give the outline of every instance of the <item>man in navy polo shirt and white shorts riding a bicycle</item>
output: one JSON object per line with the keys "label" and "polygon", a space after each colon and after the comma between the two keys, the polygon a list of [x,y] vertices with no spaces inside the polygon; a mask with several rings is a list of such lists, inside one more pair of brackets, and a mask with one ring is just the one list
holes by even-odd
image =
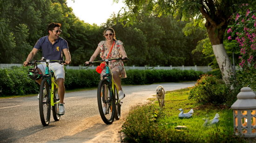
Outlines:
{"label": "man in navy polo shirt and white shorts riding a bicycle", "polygon": [[[61,24],[60,23],[51,23],[48,25],[47,30],[49,32],[48,36],[41,37],[36,44],[34,45],[33,50],[27,56],[27,60],[23,62],[24,66],[27,66],[28,63],[34,58],[38,50],[42,50],[43,57],[47,60],[63,60],[62,52],[66,57],[66,64],[70,64],[71,56],[68,50],[67,41],[60,37],[61,34]],[[35,72],[40,72],[45,74],[45,67],[44,63],[39,64],[38,68]],[[58,62],[49,63],[50,70],[54,71],[54,75],[57,79],[58,84],[58,94],[60,96],[60,107],[58,114],[64,115],[65,108],[64,108],[64,94],[65,94],[65,86],[64,86],[64,79],[65,79],[65,71],[64,66]],[[34,79],[38,84],[41,83],[41,78]],[[38,94],[39,98],[39,94]]]}

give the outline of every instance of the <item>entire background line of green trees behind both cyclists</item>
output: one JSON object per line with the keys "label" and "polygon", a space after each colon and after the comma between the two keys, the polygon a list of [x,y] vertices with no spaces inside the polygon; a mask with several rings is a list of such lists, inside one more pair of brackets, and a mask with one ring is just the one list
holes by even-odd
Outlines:
{"label": "entire background line of green trees behind both cyclists", "polygon": [[[0,0],[0,63],[22,63],[36,41],[48,34],[51,22],[62,25],[61,37],[68,42],[72,65],[89,60],[97,44],[104,40],[102,32],[107,27],[113,27],[117,39],[124,43],[131,59],[127,65],[203,66],[212,60],[199,50],[191,54],[198,41],[207,37],[205,28],[186,28],[189,22],[146,11],[136,17],[139,21],[133,25],[117,22],[121,18],[113,14],[101,26],[90,25],[74,15],[66,0]],[[189,35],[184,31],[190,31]],[[39,52],[34,59],[40,57]]]}

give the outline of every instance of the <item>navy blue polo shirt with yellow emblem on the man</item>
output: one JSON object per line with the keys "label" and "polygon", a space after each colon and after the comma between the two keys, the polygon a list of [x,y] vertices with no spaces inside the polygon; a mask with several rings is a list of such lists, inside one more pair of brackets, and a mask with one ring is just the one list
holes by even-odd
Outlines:
{"label": "navy blue polo shirt with yellow emblem on the man", "polygon": [[63,60],[62,50],[68,48],[67,41],[62,37],[59,37],[54,44],[52,44],[48,36],[41,37],[34,48],[43,51],[43,57],[47,60]]}

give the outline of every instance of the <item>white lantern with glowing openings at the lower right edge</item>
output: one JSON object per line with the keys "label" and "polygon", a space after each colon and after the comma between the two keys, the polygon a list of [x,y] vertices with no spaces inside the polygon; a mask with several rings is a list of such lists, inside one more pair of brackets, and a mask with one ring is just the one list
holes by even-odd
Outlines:
{"label": "white lantern with glowing openings at the lower right edge", "polygon": [[250,87],[237,94],[233,109],[234,133],[243,137],[256,137],[256,95]]}

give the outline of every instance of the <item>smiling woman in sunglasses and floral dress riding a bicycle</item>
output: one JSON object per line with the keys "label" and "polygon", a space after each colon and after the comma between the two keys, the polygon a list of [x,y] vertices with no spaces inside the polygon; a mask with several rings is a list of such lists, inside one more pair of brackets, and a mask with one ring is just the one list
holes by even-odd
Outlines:
{"label": "smiling woman in sunglasses and floral dress riding a bicycle", "polygon": [[[115,39],[115,31],[113,28],[107,28],[103,32],[103,36],[105,36],[106,40],[101,41],[98,44],[97,49],[94,51],[94,54],[91,56],[90,60],[85,62],[86,64],[89,64],[89,62],[93,62],[94,59],[100,54],[102,60],[105,60],[108,56],[109,51],[112,48],[111,53],[109,53],[108,59],[111,58],[119,58],[121,57],[122,59],[127,58],[126,52],[123,47],[123,43],[120,40]],[[112,71],[113,74],[113,79],[119,89],[118,95],[119,99],[124,98],[124,92],[121,87],[121,78],[126,78],[126,72],[124,69],[123,62],[121,60],[113,60],[109,61],[108,65]],[[102,75],[106,74],[106,68],[104,68],[101,72],[101,78]]]}

